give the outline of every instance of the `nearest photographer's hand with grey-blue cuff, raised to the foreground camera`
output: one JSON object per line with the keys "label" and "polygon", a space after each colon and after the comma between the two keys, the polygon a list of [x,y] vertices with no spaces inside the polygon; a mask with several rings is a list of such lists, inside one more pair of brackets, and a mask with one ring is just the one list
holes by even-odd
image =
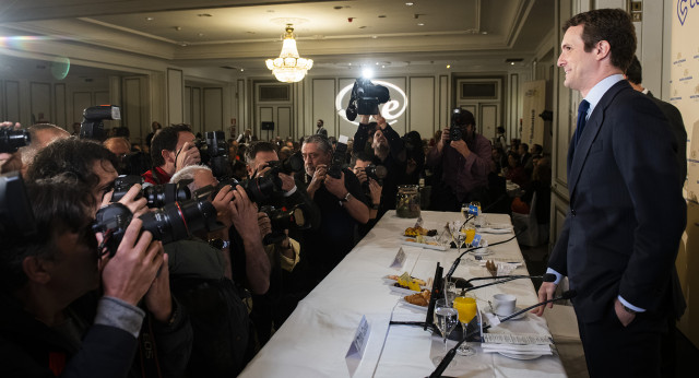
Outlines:
{"label": "nearest photographer's hand with grey-blue cuff, raised to the foreground camera", "polygon": [[[149,291],[157,270],[163,265],[163,244],[153,240],[153,234],[139,236],[143,222],[133,218],[112,258],[100,260],[102,283],[106,296],[119,298],[135,306]],[[97,239],[102,234],[97,234]]]}

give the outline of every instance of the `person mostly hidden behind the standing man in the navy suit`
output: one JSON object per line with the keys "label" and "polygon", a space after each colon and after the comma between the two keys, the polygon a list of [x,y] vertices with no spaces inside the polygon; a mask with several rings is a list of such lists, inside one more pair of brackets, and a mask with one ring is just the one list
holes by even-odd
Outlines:
{"label": "person mostly hidden behind the standing man in the navy suit", "polygon": [[638,61],[636,56],[633,56],[633,60],[631,60],[631,66],[626,70],[626,80],[629,81],[629,84],[631,84],[636,91],[653,98],[655,105],[657,105],[660,110],[667,118],[670,129],[677,141],[677,151],[675,151],[675,156],[677,158],[677,164],[679,165],[679,185],[683,186],[687,178],[687,129],[685,128],[685,122],[682,119],[682,113],[679,113],[679,109],[677,109],[675,105],[656,98],[653,96],[651,91],[643,87],[643,69],[641,68],[641,62]]}

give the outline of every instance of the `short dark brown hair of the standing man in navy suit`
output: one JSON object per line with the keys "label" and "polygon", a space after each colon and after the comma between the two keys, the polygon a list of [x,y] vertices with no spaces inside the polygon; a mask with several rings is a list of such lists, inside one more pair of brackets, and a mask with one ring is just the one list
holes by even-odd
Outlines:
{"label": "short dark brown hair of the standing man in navy suit", "polygon": [[612,64],[623,72],[636,54],[636,28],[631,16],[620,9],[596,9],[576,14],[564,24],[564,33],[571,26],[583,25],[584,51],[590,52],[601,40],[609,43]]}

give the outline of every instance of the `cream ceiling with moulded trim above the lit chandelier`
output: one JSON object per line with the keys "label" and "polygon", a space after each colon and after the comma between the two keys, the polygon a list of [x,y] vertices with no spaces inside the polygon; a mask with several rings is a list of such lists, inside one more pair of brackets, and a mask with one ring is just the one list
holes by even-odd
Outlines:
{"label": "cream ceiling with moulded trim above the lit chandelier", "polygon": [[[502,70],[506,58],[531,61],[554,25],[554,0],[407,2],[3,0],[0,36],[44,35],[167,64],[266,74],[263,60],[279,55],[293,23],[299,54],[316,71],[377,63]],[[0,39],[0,48],[17,47]]]}

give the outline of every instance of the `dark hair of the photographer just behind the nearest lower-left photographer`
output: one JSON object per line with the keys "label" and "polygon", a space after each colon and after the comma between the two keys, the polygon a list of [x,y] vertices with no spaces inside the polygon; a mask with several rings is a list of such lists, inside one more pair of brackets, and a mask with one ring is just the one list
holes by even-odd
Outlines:
{"label": "dark hair of the photographer just behind the nearest lower-left photographer", "polygon": [[99,176],[93,172],[96,161],[109,162],[115,169],[119,166],[117,156],[95,141],[75,137],[61,139],[36,154],[26,178],[34,181],[69,173],[88,188],[94,188],[99,184]]}

